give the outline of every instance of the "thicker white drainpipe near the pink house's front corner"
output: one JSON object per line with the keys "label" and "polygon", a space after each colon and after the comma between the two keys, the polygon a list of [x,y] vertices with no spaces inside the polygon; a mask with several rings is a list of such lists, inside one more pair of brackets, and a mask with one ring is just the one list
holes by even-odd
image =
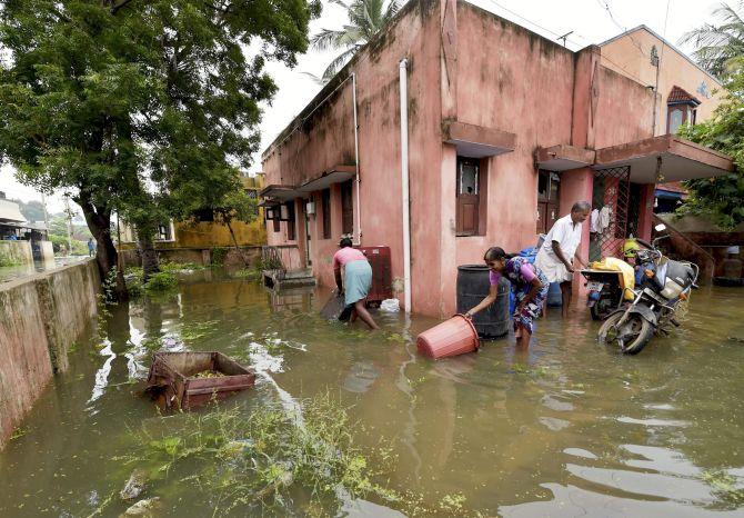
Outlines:
{"label": "thicker white drainpipe near the pink house's front corner", "polygon": [[403,202],[403,308],[411,312],[411,215],[409,198],[409,92],[408,59],[399,63],[401,88],[401,185]]}

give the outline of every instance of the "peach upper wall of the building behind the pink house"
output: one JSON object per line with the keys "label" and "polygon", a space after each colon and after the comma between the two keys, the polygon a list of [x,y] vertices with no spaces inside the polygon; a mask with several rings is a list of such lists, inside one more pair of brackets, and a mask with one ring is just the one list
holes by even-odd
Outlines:
{"label": "peach upper wall of the building behind the pink house", "polygon": [[[664,44],[645,28],[639,28],[602,46],[602,64],[637,81],[643,87],[656,84],[656,67],[651,64],[651,48],[656,46],[658,68],[658,103],[655,135],[666,133],[666,100],[674,86],[686,90],[701,101],[697,121],[711,118],[723,99],[723,87],[676,50]],[[698,89],[705,84],[707,97]],[[718,90],[715,92],[715,90]],[[653,114],[653,110],[652,110]]]}

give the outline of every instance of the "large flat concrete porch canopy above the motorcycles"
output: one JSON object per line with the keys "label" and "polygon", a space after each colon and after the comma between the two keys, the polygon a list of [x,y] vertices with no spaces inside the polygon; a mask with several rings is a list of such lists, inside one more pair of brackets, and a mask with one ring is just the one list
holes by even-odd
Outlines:
{"label": "large flat concrete porch canopy above the motorcycles", "polygon": [[596,151],[594,169],[622,166],[631,167],[631,181],[635,183],[711,178],[734,170],[734,165],[726,155],[673,135]]}

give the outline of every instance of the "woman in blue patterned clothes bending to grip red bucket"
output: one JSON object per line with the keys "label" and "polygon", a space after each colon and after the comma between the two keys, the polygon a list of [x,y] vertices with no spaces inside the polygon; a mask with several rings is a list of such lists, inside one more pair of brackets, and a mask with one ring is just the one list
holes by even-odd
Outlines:
{"label": "woman in blue patterned clothes bending to grip red bucket", "polygon": [[516,345],[530,347],[530,337],[534,331],[534,319],[540,317],[543,303],[547,297],[549,282],[545,275],[530,265],[524,257],[506,253],[502,248],[492,247],[483,256],[485,265],[491,269],[489,279],[491,289],[489,295],[473,309],[465,313],[473,315],[491,306],[499,293],[499,280],[505,277],[512,282],[512,290],[516,297],[516,309],[513,315],[514,337]]}

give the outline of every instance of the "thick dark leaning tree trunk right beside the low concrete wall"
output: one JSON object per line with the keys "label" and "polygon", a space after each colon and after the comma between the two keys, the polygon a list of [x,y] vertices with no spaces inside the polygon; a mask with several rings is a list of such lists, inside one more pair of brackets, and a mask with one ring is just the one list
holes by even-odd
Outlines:
{"label": "thick dark leaning tree trunk right beside the low concrete wall", "polygon": [[[111,211],[103,207],[93,206],[82,193],[76,201],[82,208],[90,233],[95,238],[95,261],[101,275],[101,282],[105,283],[109,280],[111,270],[119,262],[117,247],[114,247],[113,239],[111,238]],[[114,301],[127,300],[127,286],[124,283],[124,273],[121,269],[117,271],[115,283],[112,288],[109,292]]]}

